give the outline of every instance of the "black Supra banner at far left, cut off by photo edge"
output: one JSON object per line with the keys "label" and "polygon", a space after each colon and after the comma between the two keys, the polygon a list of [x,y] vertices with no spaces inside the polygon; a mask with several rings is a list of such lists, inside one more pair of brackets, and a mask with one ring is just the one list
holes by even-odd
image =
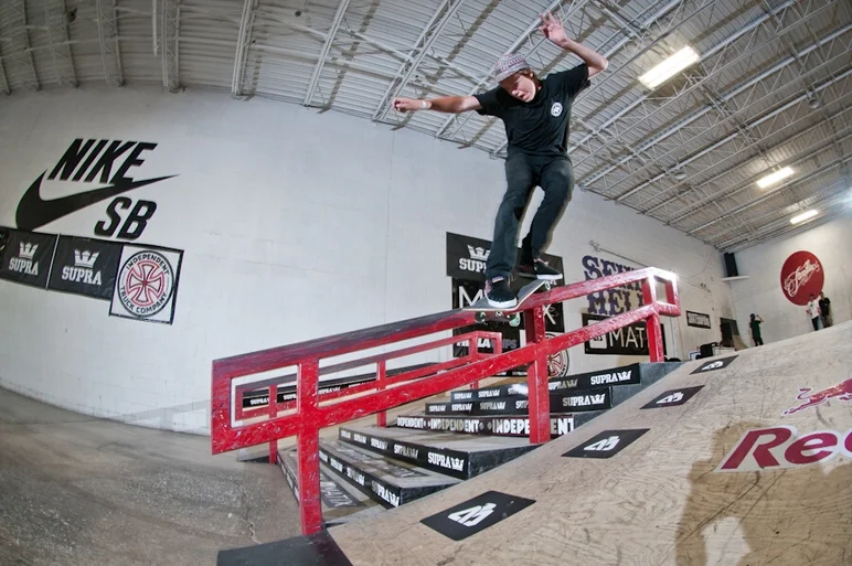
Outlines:
{"label": "black Supra banner at far left, cut off by photo edge", "polygon": [[3,264],[0,266],[0,277],[46,288],[55,247],[54,234],[10,229],[9,241],[3,250]]}

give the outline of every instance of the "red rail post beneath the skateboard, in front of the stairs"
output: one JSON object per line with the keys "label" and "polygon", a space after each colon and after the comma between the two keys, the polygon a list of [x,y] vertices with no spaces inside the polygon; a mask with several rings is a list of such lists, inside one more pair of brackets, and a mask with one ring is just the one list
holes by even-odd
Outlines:
{"label": "red rail post beneath the skateboard, in front of the stairs", "polygon": [[[544,342],[544,307],[536,307],[524,313],[526,343]],[[528,412],[530,417],[530,442],[541,444],[551,439],[551,397],[547,391],[547,355],[536,349],[535,359],[526,366]]]}

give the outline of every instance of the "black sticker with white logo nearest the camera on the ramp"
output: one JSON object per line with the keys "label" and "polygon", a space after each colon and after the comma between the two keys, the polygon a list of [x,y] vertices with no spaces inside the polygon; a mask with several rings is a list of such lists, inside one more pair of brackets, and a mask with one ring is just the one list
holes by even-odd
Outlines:
{"label": "black sticker with white logo nearest the camera on the ramp", "polygon": [[456,506],[427,516],[420,523],[454,541],[484,531],[535,503],[531,499],[487,491]]}

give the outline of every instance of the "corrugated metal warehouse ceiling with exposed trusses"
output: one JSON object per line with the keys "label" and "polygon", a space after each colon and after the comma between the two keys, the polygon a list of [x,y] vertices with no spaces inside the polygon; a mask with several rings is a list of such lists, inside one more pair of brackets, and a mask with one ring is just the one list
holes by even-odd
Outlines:
{"label": "corrugated metal warehouse ceiling with exposed trusses", "polygon": [[[737,252],[852,206],[852,3],[843,0],[0,0],[0,93],[161,84],[331,109],[494,158],[502,122],[402,115],[395,96],[493,87],[507,52],[546,75],[609,60],[576,99],[577,185]],[[654,88],[639,77],[690,47]],[[0,98],[2,111],[2,98]],[[774,183],[758,183],[777,173]],[[805,223],[790,220],[816,211]]]}

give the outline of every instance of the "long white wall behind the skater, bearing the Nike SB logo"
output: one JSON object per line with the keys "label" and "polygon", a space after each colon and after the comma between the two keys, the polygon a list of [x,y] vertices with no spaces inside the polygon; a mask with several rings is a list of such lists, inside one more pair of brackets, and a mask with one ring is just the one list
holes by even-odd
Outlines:
{"label": "long white wall behind the skater, bearing the Nike SB logo", "polygon": [[[491,239],[504,189],[502,161],[363,119],[85,87],[0,100],[0,225],[15,227],[23,192],[77,137],[156,142],[132,175],[179,175],[130,193],[158,204],[140,242],[185,250],[175,319],[117,319],[102,301],[0,280],[0,385],[179,430],[207,426],[214,359],[448,310],[446,233]],[[43,196],[94,186],[45,184]],[[107,203],[40,229],[93,237]],[[713,317],[711,331],[667,321],[670,355],[717,339],[718,317],[733,313],[718,253],[576,191],[549,249],[567,280],[584,279],[587,254],[628,264],[589,241],[677,271],[684,309]],[[566,303],[568,328],[586,306]],[[573,373],[631,361],[571,356]]]}

